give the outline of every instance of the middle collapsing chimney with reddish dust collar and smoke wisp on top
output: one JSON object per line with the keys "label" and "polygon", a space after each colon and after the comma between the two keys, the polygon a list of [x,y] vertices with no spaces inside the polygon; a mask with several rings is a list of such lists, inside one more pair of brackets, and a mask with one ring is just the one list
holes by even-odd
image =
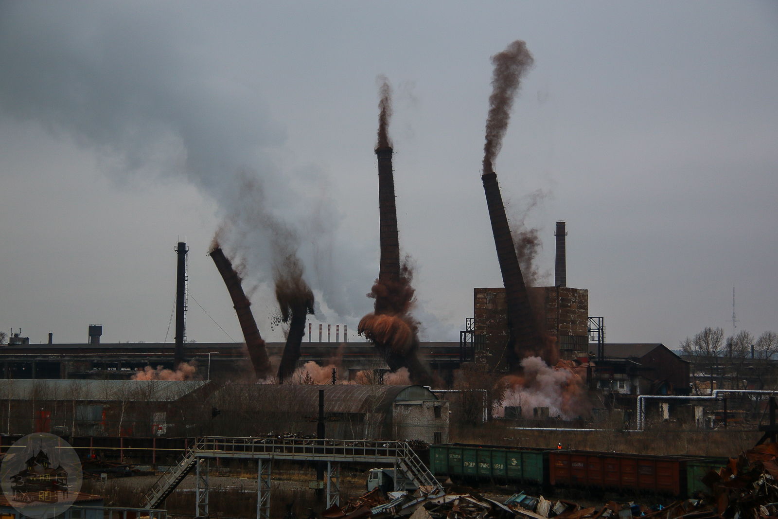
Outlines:
{"label": "middle collapsing chimney with reddish dust collar and smoke wisp on top", "polygon": [[386,78],[380,88],[378,107],[378,206],[381,258],[378,279],[368,296],[376,300],[374,312],[359,321],[357,332],[376,345],[389,369],[408,368],[415,384],[432,384],[433,379],[419,360],[419,323],[408,314],[414,302],[412,272],[400,264],[397,208],[394,204],[394,173],[389,140],[391,86]]}

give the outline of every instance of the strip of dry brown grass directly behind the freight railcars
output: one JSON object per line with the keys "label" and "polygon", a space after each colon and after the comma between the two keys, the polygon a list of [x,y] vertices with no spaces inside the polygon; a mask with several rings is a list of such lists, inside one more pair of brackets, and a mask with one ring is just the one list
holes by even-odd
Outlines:
{"label": "strip of dry brown grass directly behind the freight railcars", "polygon": [[563,448],[616,451],[633,454],[682,454],[733,457],[753,447],[762,433],[743,430],[647,430],[637,432],[566,432],[513,430],[506,423],[491,422],[461,427],[450,432],[452,442],[511,447]]}

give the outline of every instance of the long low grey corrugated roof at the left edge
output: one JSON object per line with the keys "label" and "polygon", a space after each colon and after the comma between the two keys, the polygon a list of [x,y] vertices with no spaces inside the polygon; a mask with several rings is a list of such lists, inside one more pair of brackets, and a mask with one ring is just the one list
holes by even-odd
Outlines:
{"label": "long low grey corrugated roof at the left edge", "polygon": [[2,400],[173,402],[208,384],[203,380],[0,380]]}

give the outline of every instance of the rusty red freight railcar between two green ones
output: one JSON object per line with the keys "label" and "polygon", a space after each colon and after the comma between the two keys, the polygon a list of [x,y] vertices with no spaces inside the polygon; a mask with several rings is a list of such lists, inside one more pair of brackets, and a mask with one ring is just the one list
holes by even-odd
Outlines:
{"label": "rusty red freight railcar between two green ones", "polygon": [[552,485],[632,489],[681,496],[686,493],[686,461],[681,456],[652,456],[595,451],[549,451]]}

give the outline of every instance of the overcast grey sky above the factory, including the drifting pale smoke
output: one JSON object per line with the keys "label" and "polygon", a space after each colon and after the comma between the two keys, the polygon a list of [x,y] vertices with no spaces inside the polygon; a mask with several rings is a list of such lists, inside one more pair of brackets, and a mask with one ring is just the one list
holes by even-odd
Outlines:
{"label": "overcast grey sky above the factory, including the drifting pale smoke", "polygon": [[[456,340],[473,287],[502,285],[479,167],[489,56],[516,39],[535,67],[496,172],[514,220],[545,193],[541,269],[566,220],[568,284],[609,342],[731,333],[733,286],[738,327],[778,328],[778,2],[0,2],[0,329],[161,342],[186,240],[187,337],[240,341],[205,254],[261,208],[296,230],[317,317],[353,339],[378,272],[385,74],[417,314]],[[230,247],[279,340],[268,236],[247,227]]]}

